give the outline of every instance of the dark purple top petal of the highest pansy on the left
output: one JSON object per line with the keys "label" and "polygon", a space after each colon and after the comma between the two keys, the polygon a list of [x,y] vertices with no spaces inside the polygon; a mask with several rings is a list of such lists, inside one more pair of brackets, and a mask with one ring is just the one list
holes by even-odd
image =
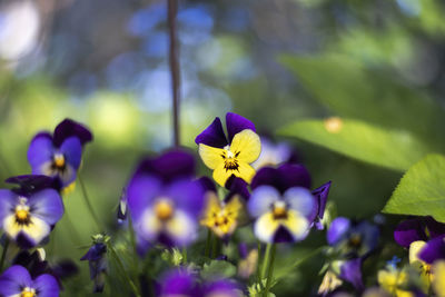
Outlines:
{"label": "dark purple top petal of the highest pansy on the left", "polygon": [[92,140],[92,133],[87,127],[71,119],[65,119],[55,129],[55,145],[59,147],[67,138],[72,136],[77,137],[82,146]]}

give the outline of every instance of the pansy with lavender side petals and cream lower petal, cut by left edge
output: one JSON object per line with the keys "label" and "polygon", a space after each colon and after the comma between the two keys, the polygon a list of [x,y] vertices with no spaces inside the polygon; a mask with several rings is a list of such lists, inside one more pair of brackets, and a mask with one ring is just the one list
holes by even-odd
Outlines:
{"label": "pansy with lavender side petals and cream lower petal, cut by left edge", "polygon": [[0,227],[23,248],[39,245],[62,215],[61,197],[52,188],[0,189]]}

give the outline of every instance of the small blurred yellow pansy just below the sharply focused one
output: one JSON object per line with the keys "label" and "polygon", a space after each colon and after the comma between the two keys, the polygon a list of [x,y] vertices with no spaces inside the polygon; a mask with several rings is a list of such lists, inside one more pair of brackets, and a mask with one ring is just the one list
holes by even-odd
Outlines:
{"label": "small blurred yellow pansy just below the sharply focused one", "polygon": [[237,225],[243,204],[240,196],[229,194],[225,200],[220,200],[215,185],[208,178],[200,179],[206,188],[206,208],[200,224],[212,230],[218,237],[227,238]]}

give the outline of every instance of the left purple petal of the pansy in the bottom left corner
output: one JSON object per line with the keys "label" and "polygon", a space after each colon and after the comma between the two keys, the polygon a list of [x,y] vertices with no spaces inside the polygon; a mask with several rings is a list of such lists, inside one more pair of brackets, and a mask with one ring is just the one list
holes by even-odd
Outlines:
{"label": "left purple petal of the pansy in the bottom left corner", "polygon": [[1,296],[19,295],[23,287],[32,287],[32,279],[28,270],[20,265],[11,266],[0,276]]}

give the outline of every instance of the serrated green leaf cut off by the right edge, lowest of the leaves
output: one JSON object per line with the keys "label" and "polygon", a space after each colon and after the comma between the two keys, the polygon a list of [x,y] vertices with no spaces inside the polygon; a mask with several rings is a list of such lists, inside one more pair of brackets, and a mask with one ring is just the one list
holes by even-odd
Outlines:
{"label": "serrated green leaf cut off by the right edge, lowest of the leaves", "polygon": [[445,222],[445,157],[428,155],[406,171],[384,212],[433,216]]}

